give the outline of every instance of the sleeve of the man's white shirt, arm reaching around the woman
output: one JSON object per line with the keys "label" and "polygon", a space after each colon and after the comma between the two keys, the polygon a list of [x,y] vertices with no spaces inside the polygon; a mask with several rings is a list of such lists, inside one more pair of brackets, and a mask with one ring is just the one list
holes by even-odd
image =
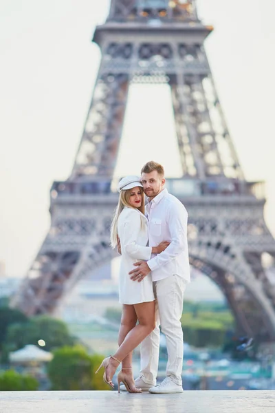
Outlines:
{"label": "sleeve of the man's white shirt, arm reaching around the woman", "polygon": [[188,213],[184,206],[172,204],[168,209],[167,220],[171,237],[170,245],[162,253],[147,261],[151,271],[173,260],[184,251],[186,246]]}

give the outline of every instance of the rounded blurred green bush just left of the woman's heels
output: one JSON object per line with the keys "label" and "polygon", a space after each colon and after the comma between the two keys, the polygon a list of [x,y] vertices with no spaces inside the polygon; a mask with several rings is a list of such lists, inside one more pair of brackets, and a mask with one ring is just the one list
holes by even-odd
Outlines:
{"label": "rounded blurred green bush just left of the woman's heels", "polygon": [[103,358],[89,356],[81,346],[58,348],[47,367],[52,390],[107,390],[102,376],[94,377]]}

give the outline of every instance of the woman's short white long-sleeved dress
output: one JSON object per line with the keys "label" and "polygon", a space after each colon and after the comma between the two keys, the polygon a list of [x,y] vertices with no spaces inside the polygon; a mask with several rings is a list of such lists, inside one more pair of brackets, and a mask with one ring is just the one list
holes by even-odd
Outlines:
{"label": "woman's short white long-sleeved dress", "polygon": [[121,245],[119,295],[121,304],[138,304],[153,301],[151,273],[141,282],[133,281],[129,272],[137,261],[148,261],[152,248],[148,243],[147,219],[138,209],[124,207],[118,218],[118,236]]}

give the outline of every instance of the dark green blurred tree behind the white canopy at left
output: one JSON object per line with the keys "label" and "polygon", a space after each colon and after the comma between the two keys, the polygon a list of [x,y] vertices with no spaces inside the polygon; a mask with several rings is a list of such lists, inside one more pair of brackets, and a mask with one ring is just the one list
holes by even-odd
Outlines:
{"label": "dark green blurred tree behind the white canopy at left", "polygon": [[14,324],[8,328],[5,345],[9,350],[17,350],[26,344],[45,341],[44,350],[52,350],[62,346],[72,346],[76,338],[69,334],[67,325],[47,315],[33,317],[27,324]]}

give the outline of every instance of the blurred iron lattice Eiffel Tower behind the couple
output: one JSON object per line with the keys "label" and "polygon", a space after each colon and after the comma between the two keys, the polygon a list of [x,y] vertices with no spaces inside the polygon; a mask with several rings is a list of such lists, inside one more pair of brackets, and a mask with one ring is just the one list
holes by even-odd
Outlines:
{"label": "blurred iron lattice Eiffel Tower behind the couple", "polygon": [[[247,182],[203,42],[195,0],[111,0],[94,33],[102,61],[71,176],[50,191],[50,231],[12,306],[54,313],[76,282],[113,257],[111,191],[129,87],[166,83],[183,175],[166,187],[189,212],[190,264],[216,283],[239,332],[275,339],[275,242],[263,182]],[[142,165],[141,165],[142,166]]]}

